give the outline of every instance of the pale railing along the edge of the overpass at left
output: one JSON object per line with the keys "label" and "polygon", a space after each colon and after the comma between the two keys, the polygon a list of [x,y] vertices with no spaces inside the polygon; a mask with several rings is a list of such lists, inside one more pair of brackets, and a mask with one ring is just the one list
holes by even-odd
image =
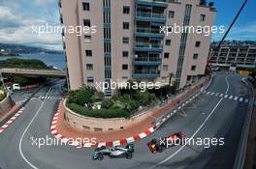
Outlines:
{"label": "pale railing along the edge of the overpass at left", "polygon": [[37,69],[0,69],[2,73],[22,73],[22,74],[40,74],[40,75],[55,75],[66,76],[66,73],[62,70],[37,70]]}

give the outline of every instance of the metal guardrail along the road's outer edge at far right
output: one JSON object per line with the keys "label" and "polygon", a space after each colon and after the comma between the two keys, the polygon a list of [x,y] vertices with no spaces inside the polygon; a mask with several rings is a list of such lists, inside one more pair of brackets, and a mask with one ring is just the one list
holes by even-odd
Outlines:
{"label": "metal guardrail along the road's outer edge at far right", "polygon": [[251,117],[252,117],[252,113],[253,113],[253,105],[254,105],[254,101],[255,101],[252,84],[247,81],[246,77],[242,78],[241,81],[246,86],[248,86],[249,89],[252,90],[252,92],[249,92],[251,99],[249,101],[248,112],[246,113],[246,116],[244,118],[244,123],[243,123],[243,127],[241,130],[239,150],[236,155],[235,164],[233,166],[233,169],[242,169],[244,166],[246,150],[247,150],[248,134],[249,134],[249,129],[250,129]]}

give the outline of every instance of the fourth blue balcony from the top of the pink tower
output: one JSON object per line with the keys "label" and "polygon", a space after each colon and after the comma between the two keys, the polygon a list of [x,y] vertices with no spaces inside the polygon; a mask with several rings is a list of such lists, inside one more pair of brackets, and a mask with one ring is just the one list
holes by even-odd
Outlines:
{"label": "fourth blue balcony from the top of the pink tower", "polygon": [[156,51],[162,52],[163,45],[161,44],[154,44],[154,43],[144,43],[144,42],[137,42],[135,44],[136,51]]}

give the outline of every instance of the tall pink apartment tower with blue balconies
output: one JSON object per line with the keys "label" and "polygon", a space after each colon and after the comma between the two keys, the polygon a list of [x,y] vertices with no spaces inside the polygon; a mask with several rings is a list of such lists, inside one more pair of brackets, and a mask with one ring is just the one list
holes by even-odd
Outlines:
{"label": "tall pink apartment tower with blue balconies", "polygon": [[212,26],[216,10],[202,0],[61,0],[59,6],[64,26],[97,30],[63,34],[71,89],[128,79],[162,85],[171,79],[182,88],[205,73],[211,35],[162,29]]}

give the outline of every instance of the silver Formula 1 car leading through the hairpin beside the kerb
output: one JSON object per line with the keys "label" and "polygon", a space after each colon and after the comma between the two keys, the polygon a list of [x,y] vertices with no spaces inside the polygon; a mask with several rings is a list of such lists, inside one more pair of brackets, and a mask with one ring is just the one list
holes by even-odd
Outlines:
{"label": "silver Formula 1 car leading through the hairpin beside the kerb", "polygon": [[134,145],[127,144],[125,148],[120,146],[115,146],[110,149],[102,146],[97,148],[93,152],[92,159],[93,160],[102,160],[104,155],[109,155],[110,157],[126,157],[127,159],[131,159],[134,153]]}

